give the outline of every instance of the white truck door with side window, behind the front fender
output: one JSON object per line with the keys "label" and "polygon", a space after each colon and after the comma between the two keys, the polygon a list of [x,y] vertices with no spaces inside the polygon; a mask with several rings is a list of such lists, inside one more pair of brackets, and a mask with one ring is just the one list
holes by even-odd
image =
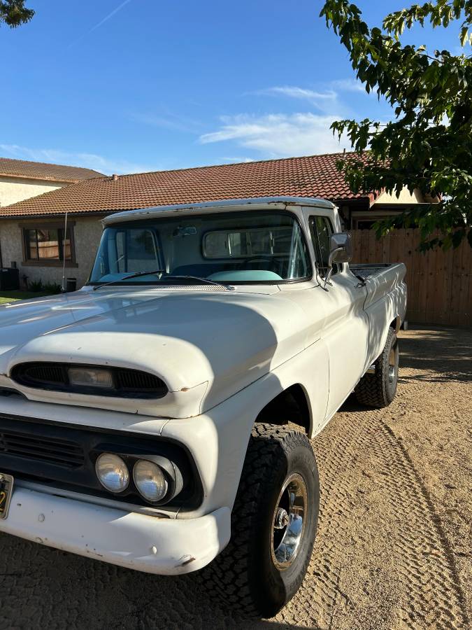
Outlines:
{"label": "white truck door with side window, behind the front fender", "polygon": [[329,356],[327,418],[330,418],[364,374],[369,339],[369,319],[364,311],[367,291],[358,286],[359,281],[348,265],[334,265],[330,284],[324,290],[329,237],[334,228],[329,216],[312,215],[308,221],[320,280],[313,293],[318,304],[322,302],[326,316],[321,334]]}

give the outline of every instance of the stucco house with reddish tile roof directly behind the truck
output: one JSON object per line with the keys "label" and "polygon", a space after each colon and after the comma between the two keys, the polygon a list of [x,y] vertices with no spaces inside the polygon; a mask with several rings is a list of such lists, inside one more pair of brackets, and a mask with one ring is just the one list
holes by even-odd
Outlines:
{"label": "stucco house with reddish tile roof directly behind the truck", "polygon": [[[346,229],[423,203],[419,193],[352,193],[336,169],[340,153],[83,179],[0,208],[0,256],[20,278],[87,281],[101,236],[100,218],[123,210],[243,197],[323,197],[335,202]],[[67,228],[65,227],[67,216]],[[65,243],[64,243],[65,239]],[[64,247],[65,245],[65,247]]]}

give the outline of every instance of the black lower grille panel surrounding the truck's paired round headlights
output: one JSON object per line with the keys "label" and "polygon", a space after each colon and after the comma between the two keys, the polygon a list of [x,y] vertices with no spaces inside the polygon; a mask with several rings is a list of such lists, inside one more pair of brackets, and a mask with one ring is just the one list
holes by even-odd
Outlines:
{"label": "black lower grille panel surrounding the truck's paired round headlights", "polygon": [[117,453],[129,470],[136,458],[162,456],[183,475],[183,489],[168,507],[192,510],[201,504],[203,488],[192,456],[183,444],[160,435],[131,433],[108,428],[87,428],[45,419],[5,414],[0,410],[0,471],[15,479],[36,482],[52,489],[113,498],[124,503],[148,505],[131,482],[124,493],[111,496],[96,477],[96,457]]}

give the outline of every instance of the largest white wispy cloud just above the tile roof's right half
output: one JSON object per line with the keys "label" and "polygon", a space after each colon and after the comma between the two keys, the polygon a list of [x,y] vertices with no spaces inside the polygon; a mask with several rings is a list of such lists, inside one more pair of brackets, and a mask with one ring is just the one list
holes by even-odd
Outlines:
{"label": "largest white wispy cloud just above the tile roof's right half", "polygon": [[202,144],[232,141],[259,151],[269,158],[314,153],[335,153],[349,148],[347,139],[338,142],[329,129],[336,116],[314,113],[239,114],[224,116],[220,127],[199,138]]}

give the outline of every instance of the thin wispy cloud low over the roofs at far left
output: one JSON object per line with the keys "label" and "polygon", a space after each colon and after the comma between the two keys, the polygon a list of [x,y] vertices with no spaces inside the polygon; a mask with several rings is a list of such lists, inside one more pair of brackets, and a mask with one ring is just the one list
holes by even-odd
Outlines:
{"label": "thin wispy cloud low over the roofs at far left", "polygon": [[130,162],[128,160],[105,158],[103,155],[97,155],[96,153],[62,151],[55,148],[29,148],[18,146],[17,144],[0,144],[0,151],[3,157],[6,158],[85,167],[106,175],[111,173],[142,173],[159,168],[158,165],[150,165],[145,162]]}

